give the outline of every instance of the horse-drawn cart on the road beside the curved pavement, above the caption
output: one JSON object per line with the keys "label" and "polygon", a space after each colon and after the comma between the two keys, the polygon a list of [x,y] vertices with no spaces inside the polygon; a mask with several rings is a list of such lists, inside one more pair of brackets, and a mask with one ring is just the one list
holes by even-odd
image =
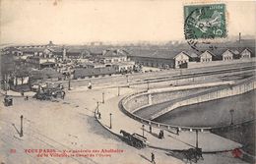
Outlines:
{"label": "horse-drawn cart on the road beside the curved pavement, above the caption", "polygon": [[144,148],[147,145],[147,137],[143,137],[139,134],[129,134],[123,130],[120,131],[123,135],[123,139],[130,145],[137,148]]}

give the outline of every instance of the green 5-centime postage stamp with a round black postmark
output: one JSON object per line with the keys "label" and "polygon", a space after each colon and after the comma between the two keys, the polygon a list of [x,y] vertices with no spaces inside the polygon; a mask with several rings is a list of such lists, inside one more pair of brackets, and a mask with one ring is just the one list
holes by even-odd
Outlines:
{"label": "green 5-centime postage stamp with a round black postmark", "polygon": [[214,39],[226,36],[224,4],[184,6],[184,19],[186,39]]}

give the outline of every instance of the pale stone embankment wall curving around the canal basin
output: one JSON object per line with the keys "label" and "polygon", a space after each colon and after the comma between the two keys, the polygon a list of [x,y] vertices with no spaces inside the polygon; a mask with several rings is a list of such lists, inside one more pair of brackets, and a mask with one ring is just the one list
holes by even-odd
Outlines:
{"label": "pale stone embankment wall curving around the canal basin", "polygon": [[[140,116],[135,115],[133,112],[147,107],[149,105],[158,104],[164,101],[167,101],[171,98],[168,94],[171,94],[173,90],[188,90],[192,88],[200,88],[200,87],[211,87],[220,85],[220,88],[215,88],[212,90],[207,90],[205,92],[196,94],[196,96],[189,96],[189,98],[184,97],[184,99],[180,99],[180,101],[175,102],[174,104],[168,106],[167,108],[162,109],[159,113],[153,115],[151,119],[145,119]],[[187,85],[187,86],[176,86],[176,87],[169,87],[169,88],[160,88],[160,89],[153,89],[149,91],[134,93],[122,99],[120,102],[120,107],[122,108],[123,112],[126,113],[131,118],[143,123],[152,125],[153,127],[159,127],[165,130],[177,130],[180,131],[210,131],[213,127],[180,127],[180,126],[172,126],[161,124],[155,122],[154,119],[160,117],[161,115],[176,109],[181,106],[216,100],[228,96],[238,95],[255,89],[256,81],[255,77],[251,77],[246,80],[241,80],[239,82],[213,82],[213,83],[204,83],[199,85]]]}

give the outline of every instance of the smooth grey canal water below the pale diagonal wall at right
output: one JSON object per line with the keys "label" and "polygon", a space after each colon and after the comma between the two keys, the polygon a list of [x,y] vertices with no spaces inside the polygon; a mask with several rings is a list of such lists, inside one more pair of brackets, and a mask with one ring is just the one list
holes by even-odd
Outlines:
{"label": "smooth grey canal water below the pale diagonal wall at right", "polygon": [[[189,127],[219,127],[255,119],[256,89],[244,94],[179,107],[154,121]],[[233,112],[230,112],[233,110]],[[231,116],[232,115],[232,116]]]}

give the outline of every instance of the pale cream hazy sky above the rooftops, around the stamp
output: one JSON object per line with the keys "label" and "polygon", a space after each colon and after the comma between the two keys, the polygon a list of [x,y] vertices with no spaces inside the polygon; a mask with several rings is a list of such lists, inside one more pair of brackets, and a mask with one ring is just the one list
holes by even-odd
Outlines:
{"label": "pale cream hazy sky above the rooftops, around the stamp", "polygon": [[[195,2],[195,0],[194,0]],[[184,40],[183,6],[193,0],[0,0],[0,43],[83,44]],[[228,36],[255,35],[255,1],[226,4]]]}

